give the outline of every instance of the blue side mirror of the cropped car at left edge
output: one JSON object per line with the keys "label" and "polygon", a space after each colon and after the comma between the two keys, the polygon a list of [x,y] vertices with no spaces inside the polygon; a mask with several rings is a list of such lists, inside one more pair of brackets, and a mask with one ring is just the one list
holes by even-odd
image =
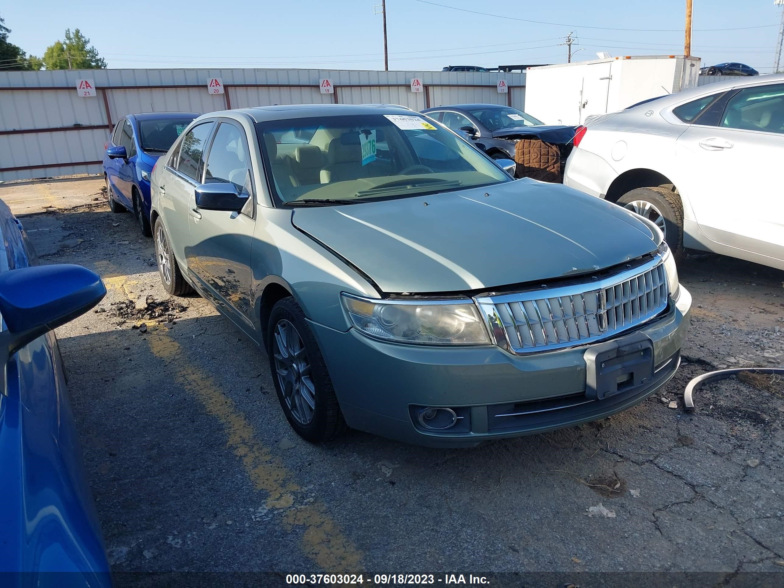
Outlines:
{"label": "blue side mirror of the cropped car at left edge", "polygon": [[62,264],[24,267],[0,274],[0,361],[21,347],[93,308],[106,296],[100,276]]}

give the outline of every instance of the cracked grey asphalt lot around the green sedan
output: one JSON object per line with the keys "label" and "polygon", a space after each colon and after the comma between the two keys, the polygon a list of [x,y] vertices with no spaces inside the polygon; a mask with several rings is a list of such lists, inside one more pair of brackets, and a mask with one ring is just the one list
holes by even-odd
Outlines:
{"label": "cracked grey asphalt lot around the green sedan", "polygon": [[356,431],[309,445],[285,421],[263,351],[205,300],[122,314],[168,299],[131,215],[96,203],[21,220],[42,263],[81,263],[109,289],[99,312],[57,336],[120,584],[151,585],[125,572],[203,571],[281,582],[492,573],[499,586],[688,571],[707,575],[636,585],[784,583],[784,386],[733,378],[704,387],[694,413],[682,409],[700,373],[781,365],[778,270],[684,260],[695,306],[683,365],[661,394],[611,419],[471,449]]}

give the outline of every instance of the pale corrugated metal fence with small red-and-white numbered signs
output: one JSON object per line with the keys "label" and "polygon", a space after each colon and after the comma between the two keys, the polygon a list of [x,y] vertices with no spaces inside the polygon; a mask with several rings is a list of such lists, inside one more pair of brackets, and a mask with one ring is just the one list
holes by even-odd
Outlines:
{"label": "pale corrugated metal fence with small red-and-white numbered signs", "polygon": [[[224,93],[207,82],[222,78]],[[322,94],[319,81],[335,92]],[[411,91],[419,78],[423,92]],[[79,79],[96,96],[82,97]],[[508,93],[499,93],[505,80]],[[393,103],[421,111],[456,103],[506,103],[522,110],[525,74],[275,69],[61,70],[0,73],[0,180],[100,173],[103,144],[125,114],[212,112],[301,103]]]}

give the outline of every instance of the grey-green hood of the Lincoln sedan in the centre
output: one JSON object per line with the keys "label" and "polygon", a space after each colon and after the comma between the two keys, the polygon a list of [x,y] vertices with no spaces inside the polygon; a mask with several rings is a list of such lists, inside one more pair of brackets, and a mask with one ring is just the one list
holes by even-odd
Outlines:
{"label": "grey-green hood of the Lincoln sedan in the centre", "polygon": [[294,226],[383,292],[465,292],[590,273],[655,251],[632,212],[561,184],[298,208]]}

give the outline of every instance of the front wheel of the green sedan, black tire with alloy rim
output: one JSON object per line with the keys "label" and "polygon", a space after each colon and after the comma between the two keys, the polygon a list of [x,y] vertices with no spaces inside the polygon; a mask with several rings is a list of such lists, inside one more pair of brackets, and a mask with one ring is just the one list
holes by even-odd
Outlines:
{"label": "front wheel of the green sedan, black tire with alloy rim", "polygon": [[346,423],[324,356],[291,296],[272,308],[267,341],[272,380],[292,429],[312,443],[342,434]]}

